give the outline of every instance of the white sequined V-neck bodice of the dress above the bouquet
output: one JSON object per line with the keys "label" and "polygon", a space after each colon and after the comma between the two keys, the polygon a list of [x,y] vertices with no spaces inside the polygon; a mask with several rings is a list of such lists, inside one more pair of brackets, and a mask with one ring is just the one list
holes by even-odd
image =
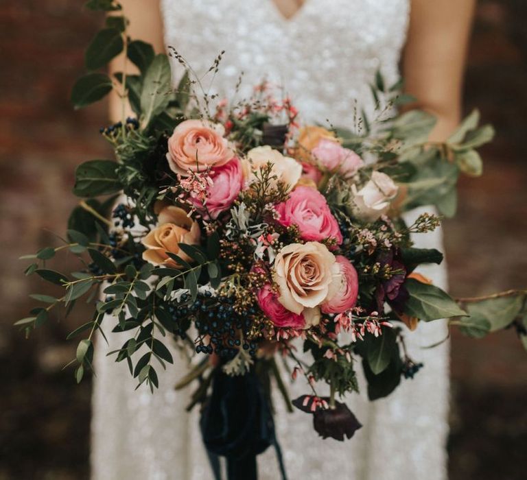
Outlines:
{"label": "white sequined V-neck bodice of the dress above the bouquet", "polygon": [[[198,75],[224,50],[212,88],[220,96],[232,95],[243,72],[242,97],[268,80],[305,120],[353,127],[355,100],[373,108],[377,69],[398,80],[409,1],[305,0],[285,19],[273,0],[162,0],[165,41]],[[174,77],[181,71],[174,62]]]}

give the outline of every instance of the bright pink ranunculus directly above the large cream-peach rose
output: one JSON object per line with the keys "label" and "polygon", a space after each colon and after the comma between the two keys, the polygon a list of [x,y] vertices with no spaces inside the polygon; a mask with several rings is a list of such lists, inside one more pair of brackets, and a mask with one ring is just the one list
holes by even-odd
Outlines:
{"label": "bright pink ranunculus directly above the large cream-peach rose", "polygon": [[328,238],[342,243],[342,233],[329,210],[322,193],[311,187],[296,187],[288,200],[277,205],[279,224],[298,226],[300,237],[305,241],[321,241]]}

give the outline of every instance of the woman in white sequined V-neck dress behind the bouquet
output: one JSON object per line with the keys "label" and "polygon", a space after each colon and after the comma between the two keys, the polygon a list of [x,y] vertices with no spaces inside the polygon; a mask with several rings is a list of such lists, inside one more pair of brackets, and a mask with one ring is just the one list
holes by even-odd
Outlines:
{"label": "woman in white sequined V-neck dress behind the bouquet", "polygon": [[[213,89],[225,96],[244,72],[241,95],[264,78],[283,85],[305,121],[353,126],[355,108],[372,112],[368,84],[381,69],[390,84],[402,60],[405,90],[438,118],[432,140],[447,137],[460,117],[460,91],[474,0],[121,0],[132,38],[163,51],[175,47],[204,73],[225,50]],[[147,6],[148,5],[148,6]],[[164,41],[161,32],[164,24]],[[401,51],[403,55],[401,58]],[[119,64],[120,66],[120,64]],[[173,65],[174,83],[182,74]],[[355,103],[355,101],[358,102]],[[118,102],[110,105],[119,117]],[[417,213],[414,213],[417,215]],[[441,249],[441,232],[419,245]],[[418,246],[419,246],[418,245]],[[445,267],[423,269],[445,287]],[[111,328],[112,318],[106,319]],[[277,436],[289,478],[440,480],[447,477],[448,346],[423,346],[446,336],[445,324],[419,325],[408,335],[410,356],[425,368],[395,394],[347,403],[364,427],[347,442],[320,440],[304,414],[287,413],[277,398]],[[212,477],[198,429],[198,412],[184,413],[188,391],[174,391],[185,372],[176,359],[154,395],[133,392],[126,366],[97,344],[93,394],[92,474],[96,480],[202,480]],[[410,343],[411,342],[411,343]],[[300,382],[298,382],[300,383]],[[364,386],[364,382],[362,383]],[[303,392],[292,385],[292,397]],[[364,388],[363,388],[364,389]],[[298,392],[296,392],[298,390]],[[278,479],[272,448],[259,457],[259,478]]]}

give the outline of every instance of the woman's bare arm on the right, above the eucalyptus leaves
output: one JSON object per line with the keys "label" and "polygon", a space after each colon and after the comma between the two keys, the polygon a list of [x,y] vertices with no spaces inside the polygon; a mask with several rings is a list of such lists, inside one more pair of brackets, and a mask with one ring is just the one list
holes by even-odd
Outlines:
{"label": "woman's bare arm on the right, above the eucalyptus leaves", "polygon": [[443,141],[460,121],[462,79],[475,0],[412,0],[403,56],[405,90],[436,115],[431,140]]}

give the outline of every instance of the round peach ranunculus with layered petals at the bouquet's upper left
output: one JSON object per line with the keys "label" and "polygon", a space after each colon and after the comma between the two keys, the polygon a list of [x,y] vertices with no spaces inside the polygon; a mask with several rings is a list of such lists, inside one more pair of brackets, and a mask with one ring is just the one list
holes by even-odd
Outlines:
{"label": "round peach ranunculus with layered petals at the bouquet's upper left", "polygon": [[181,122],[168,140],[167,160],[174,173],[187,176],[188,171],[204,171],[207,167],[225,165],[234,156],[224,139],[219,123],[201,120]]}

